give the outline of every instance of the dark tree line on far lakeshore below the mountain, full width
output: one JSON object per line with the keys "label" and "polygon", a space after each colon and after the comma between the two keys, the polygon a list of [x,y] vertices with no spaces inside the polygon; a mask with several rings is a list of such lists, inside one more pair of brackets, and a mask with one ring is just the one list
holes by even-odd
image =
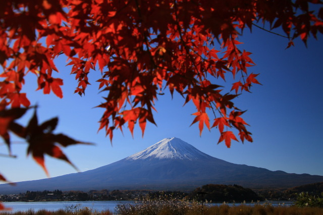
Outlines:
{"label": "dark tree line on far lakeshore below the mountain, full width", "polygon": [[26,191],[16,195],[0,195],[0,201],[94,201],[94,200],[138,200],[149,199],[188,199],[212,202],[243,202],[263,200],[296,200],[300,193],[323,198],[323,182],[306,184],[289,189],[258,189],[251,190],[239,185],[206,184],[190,192],[154,191],[154,190],[90,190],[62,191],[43,190]]}

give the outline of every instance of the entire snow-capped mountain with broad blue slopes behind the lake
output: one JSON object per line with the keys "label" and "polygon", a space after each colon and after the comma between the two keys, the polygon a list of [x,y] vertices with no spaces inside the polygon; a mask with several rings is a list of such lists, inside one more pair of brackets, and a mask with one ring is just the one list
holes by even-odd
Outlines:
{"label": "entire snow-capped mountain with broad blue slopes behind the lake", "polygon": [[192,190],[204,184],[288,188],[322,182],[323,176],[291,174],[238,165],[211,157],[187,142],[165,138],[115,163],[48,179],[0,184],[0,194],[27,190],[154,189]]}

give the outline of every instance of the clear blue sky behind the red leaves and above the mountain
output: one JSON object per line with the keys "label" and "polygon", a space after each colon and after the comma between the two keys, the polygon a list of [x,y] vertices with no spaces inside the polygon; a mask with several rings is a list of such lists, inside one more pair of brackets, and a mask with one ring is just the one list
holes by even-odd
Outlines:
{"label": "clear blue sky behind the red leaves and above the mountain", "polygon": [[[245,113],[244,119],[251,125],[254,142],[233,141],[231,149],[224,142],[217,145],[218,129],[209,132],[204,129],[199,136],[198,125],[189,127],[194,119],[192,105],[184,107],[184,100],[169,94],[160,96],[156,102],[157,127],[148,124],[145,135],[137,127],[132,138],[125,128],[124,135],[116,131],[113,146],[104,131],[97,133],[103,109],[93,108],[103,99],[98,93],[99,72],[90,76],[91,86],[85,97],[73,94],[77,86],[74,76],[65,59],[59,59],[59,74],[56,78],[64,80],[64,98],[53,94],[43,95],[36,90],[35,78],[30,74],[23,92],[27,92],[32,104],[38,104],[39,121],[59,117],[56,133],[62,132],[75,139],[89,141],[96,146],[71,146],[64,149],[70,160],[81,170],[86,171],[119,161],[155,144],[166,137],[178,137],[200,151],[213,157],[236,164],[262,167],[269,170],[283,170],[288,173],[308,173],[323,175],[323,37],[318,41],[310,38],[308,48],[296,40],[296,47],[285,50],[288,40],[274,34],[253,29],[250,34],[245,30],[240,38],[240,49],[252,52],[257,64],[249,69],[260,75],[257,77],[262,86],[254,86],[252,93],[244,93],[236,104]],[[32,111],[20,120],[26,124]],[[0,172],[10,181],[26,181],[45,178],[46,175],[31,157],[26,158],[26,144],[13,139],[13,154],[17,159],[0,157]],[[7,149],[1,146],[1,152]],[[50,176],[76,172],[67,163],[45,158]]]}

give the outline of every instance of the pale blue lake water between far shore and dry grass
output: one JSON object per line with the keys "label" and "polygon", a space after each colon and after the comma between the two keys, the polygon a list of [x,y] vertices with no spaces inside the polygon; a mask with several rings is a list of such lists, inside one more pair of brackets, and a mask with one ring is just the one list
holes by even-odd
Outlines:
{"label": "pale blue lake water between far shore and dry grass", "polygon": [[[77,206],[78,208],[88,207],[89,209],[93,209],[96,211],[104,211],[110,210],[112,212],[116,212],[115,207],[117,204],[125,204],[125,203],[134,203],[134,201],[42,201],[42,202],[2,202],[6,208],[11,208],[11,212],[17,211],[26,211],[28,209],[33,209],[34,211],[38,211],[40,209],[46,210],[59,210],[66,209],[73,206]],[[260,204],[264,202],[259,202]],[[283,202],[283,201],[275,201],[275,202],[266,202],[270,203],[273,206],[289,206],[293,202]],[[208,203],[208,205],[221,205],[222,203]],[[229,206],[240,205],[241,203],[228,203]],[[254,203],[246,203],[246,205],[254,205]],[[1,212],[0,212],[1,213]]]}

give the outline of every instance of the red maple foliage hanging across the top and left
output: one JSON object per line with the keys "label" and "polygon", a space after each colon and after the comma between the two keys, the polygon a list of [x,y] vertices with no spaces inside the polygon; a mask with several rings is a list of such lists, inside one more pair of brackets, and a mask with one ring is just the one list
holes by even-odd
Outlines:
{"label": "red maple foliage hanging across the top and left", "polygon": [[[94,105],[103,110],[99,129],[110,139],[125,125],[133,133],[139,124],[144,133],[147,121],[155,124],[154,102],[169,90],[195,105],[192,124],[198,123],[200,133],[204,126],[216,127],[227,147],[232,139],[252,141],[244,111],[233,100],[259,84],[258,74],[248,73],[254,62],[239,49],[238,37],[266,24],[267,31],[284,32],[287,47],[298,37],[306,44],[310,35],[323,33],[321,5],[319,0],[2,0],[0,135],[9,148],[9,131],[25,138],[28,153],[43,167],[44,154],[69,162],[57,144],[82,142],[52,134],[57,119],[38,125],[34,114],[26,126],[15,122],[32,108],[23,93],[27,74],[37,77],[35,86],[44,94],[63,97],[55,59],[65,55],[78,82],[75,93],[85,95],[89,73],[101,74],[104,100]],[[217,80],[228,76],[235,81],[231,92],[223,92]]]}

